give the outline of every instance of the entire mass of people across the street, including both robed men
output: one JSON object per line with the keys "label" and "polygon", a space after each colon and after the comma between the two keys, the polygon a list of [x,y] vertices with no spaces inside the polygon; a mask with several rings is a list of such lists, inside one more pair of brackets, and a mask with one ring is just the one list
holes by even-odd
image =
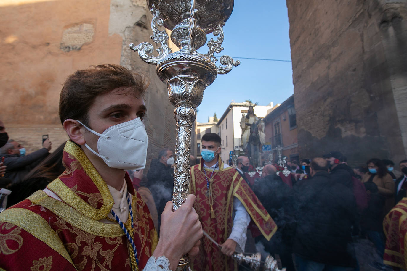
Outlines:
{"label": "entire mass of people across the street, including both robed men", "polygon": [[0,120],[0,188],[11,190],[0,269],[166,271],[188,253],[192,270],[228,271],[239,268],[232,254],[261,250],[288,271],[359,270],[361,238],[374,245],[372,270],[406,269],[407,160],[352,168],[332,151],[264,165],[251,180],[249,158],[225,164],[207,133],[202,159],[190,159],[193,195],[172,211],[173,151],[163,146],[144,171],[144,89],[118,65],[69,76],[59,115],[70,140],[51,154],[50,139],[26,154]]}

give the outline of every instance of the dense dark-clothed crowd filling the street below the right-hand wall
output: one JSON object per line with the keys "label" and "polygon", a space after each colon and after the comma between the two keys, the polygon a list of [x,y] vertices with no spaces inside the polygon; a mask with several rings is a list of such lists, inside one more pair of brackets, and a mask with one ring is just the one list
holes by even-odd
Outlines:
{"label": "dense dark-clothed crowd filling the street below the right-hand wall", "polygon": [[[248,170],[243,159],[239,172]],[[369,270],[405,269],[404,235],[398,232],[404,221],[390,217],[407,203],[407,160],[396,168],[391,160],[371,158],[351,168],[334,151],[301,164],[288,161],[287,169],[291,173],[284,176],[278,164],[266,165],[252,185],[278,225],[270,241],[256,241],[278,254],[287,270],[360,270],[355,244],[362,238],[375,248]],[[391,226],[392,232],[386,230]]]}

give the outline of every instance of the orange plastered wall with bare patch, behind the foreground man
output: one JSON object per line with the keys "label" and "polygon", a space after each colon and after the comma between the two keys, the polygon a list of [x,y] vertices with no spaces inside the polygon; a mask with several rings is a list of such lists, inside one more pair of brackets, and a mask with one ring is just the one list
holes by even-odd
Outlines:
{"label": "orange plastered wall with bare patch, behind the foreground man", "polygon": [[56,148],[68,139],[58,117],[65,78],[90,65],[120,63],[150,80],[147,168],[159,149],[175,149],[174,106],[166,86],[155,66],[129,49],[129,43],[152,42],[145,0],[14,2],[0,4],[0,119],[10,138],[31,152],[41,147],[41,135],[49,134]]}

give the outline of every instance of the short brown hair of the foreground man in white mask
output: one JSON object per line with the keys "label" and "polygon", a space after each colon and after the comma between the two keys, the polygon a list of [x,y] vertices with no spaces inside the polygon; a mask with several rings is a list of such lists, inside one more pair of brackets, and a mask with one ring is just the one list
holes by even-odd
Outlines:
{"label": "short brown hair of the foreground man in white mask", "polygon": [[79,119],[89,126],[88,111],[96,96],[117,89],[129,87],[134,95],[144,95],[148,82],[140,74],[133,74],[120,65],[103,64],[81,69],[71,74],[63,84],[59,96],[59,118]]}

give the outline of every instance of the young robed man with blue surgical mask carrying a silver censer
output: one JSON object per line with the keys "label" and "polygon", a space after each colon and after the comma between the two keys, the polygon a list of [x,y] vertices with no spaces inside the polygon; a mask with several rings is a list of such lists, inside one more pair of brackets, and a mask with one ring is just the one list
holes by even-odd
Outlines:
{"label": "young robed man with blue surgical mask carrying a silver censer", "polygon": [[190,171],[190,193],[197,196],[194,206],[202,228],[220,247],[204,237],[193,270],[236,270],[236,262],[228,256],[244,251],[250,220],[267,240],[277,227],[239,172],[221,160],[219,135],[204,134],[201,148],[201,163]]}

